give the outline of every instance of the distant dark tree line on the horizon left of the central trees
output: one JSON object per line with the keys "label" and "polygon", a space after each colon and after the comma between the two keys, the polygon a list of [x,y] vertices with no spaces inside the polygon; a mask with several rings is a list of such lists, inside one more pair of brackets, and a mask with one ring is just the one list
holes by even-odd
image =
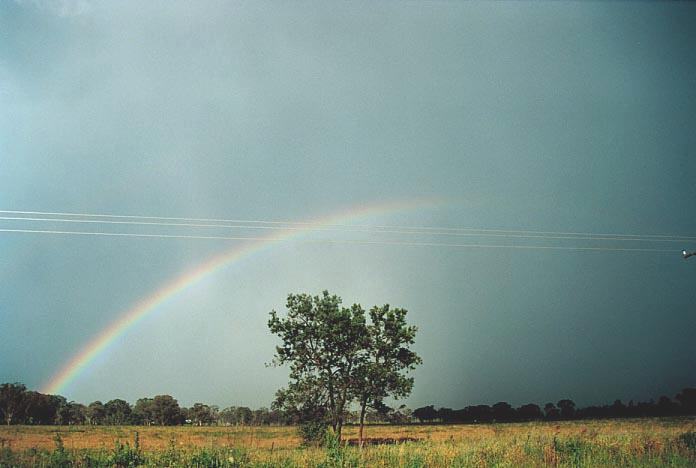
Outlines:
{"label": "distant dark tree line on the horizon left of the central trees", "polygon": [[89,425],[270,425],[287,424],[279,411],[246,406],[220,409],[196,403],[190,408],[179,406],[169,395],[141,398],[131,405],[115,399],[89,405],[68,401],[60,395],[46,395],[21,383],[0,385],[0,418],[4,424],[89,424]]}

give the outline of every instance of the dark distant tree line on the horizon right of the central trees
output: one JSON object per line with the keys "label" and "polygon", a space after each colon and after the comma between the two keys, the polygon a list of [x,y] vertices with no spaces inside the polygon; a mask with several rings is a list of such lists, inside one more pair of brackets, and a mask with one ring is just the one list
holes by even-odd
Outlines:
{"label": "dark distant tree line on the horizon right of the central trees", "polygon": [[501,401],[492,406],[467,406],[458,410],[436,409],[434,405],[413,410],[413,417],[424,423],[558,421],[688,415],[696,415],[696,388],[683,389],[674,400],[661,396],[657,401],[634,403],[631,400],[627,405],[621,400],[616,400],[610,405],[578,408],[573,400],[564,399],[557,403],[546,403],[543,408],[534,403],[514,408],[509,403]]}

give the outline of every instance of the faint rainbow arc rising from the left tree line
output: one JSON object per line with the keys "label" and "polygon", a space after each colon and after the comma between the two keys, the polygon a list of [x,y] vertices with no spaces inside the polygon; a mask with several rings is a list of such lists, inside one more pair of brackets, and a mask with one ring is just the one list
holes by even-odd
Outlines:
{"label": "faint rainbow arc rising from the left tree line", "polygon": [[[206,277],[220,271],[228,265],[278,245],[280,243],[279,241],[290,240],[322,225],[350,223],[356,219],[370,216],[432,207],[436,203],[437,202],[434,200],[416,199],[358,206],[309,222],[297,223],[292,229],[279,230],[265,237],[258,238],[258,240],[253,242],[244,243],[226,250],[220,255],[214,256],[208,261],[196,266],[194,269],[174,278],[172,281],[166,283],[154,293],[143,298],[133,307],[123,312],[117,320],[99,332],[99,334],[75,354],[70,361],[68,361],[68,363],[42,387],[41,391],[48,394],[58,394],[62,392],[85,372],[97,357],[109,349],[120,337],[125,335],[128,330],[136,327],[182,291],[199,283]],[[297,225],[301,227],[298,228]]]}

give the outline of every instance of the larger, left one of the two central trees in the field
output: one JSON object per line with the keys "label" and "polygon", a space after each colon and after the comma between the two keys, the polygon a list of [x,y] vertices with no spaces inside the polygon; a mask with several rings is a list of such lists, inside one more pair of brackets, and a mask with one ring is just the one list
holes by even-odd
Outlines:
{"label": "larger, left one of the two central trees in the field", "polygon": [[286,318],[273,310],[268,321],[268,328],[282,340],[273,364],[290,365],[291,382],[277,394],[276,406],[315,411],[340,440],[353,398],[354,369],[369,340],[365,311],[358,304],[341,307],[341,299],[328,291],[314,297],[289,294],[286,307]]}

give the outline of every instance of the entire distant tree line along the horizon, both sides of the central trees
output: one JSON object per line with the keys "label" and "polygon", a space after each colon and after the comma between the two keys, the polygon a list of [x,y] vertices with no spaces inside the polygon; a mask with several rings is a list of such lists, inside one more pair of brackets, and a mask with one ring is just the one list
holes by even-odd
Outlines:
{"label": "entire distant tree line along the horizon, both sides of the central trees", "polygon": [[[494,405],[467,406],[462,409],[439,408],[434,405],[410,410],[404,405],[391,408],[376,405],[365,413],[360,409],[346,411],[349,424],[359,424],[361,417],[368,423],[408,424],[421,423],[488,423],[521,421],[560,421],[572,419],[643,418],[656,416],[696,415],[696,388],[685,388],[672,400],[661,396],[657,401],[624,404],[616,400],[610,405],[578,408],[572,400],[546,403],[543,408],[534,403],[514,408],[506,402]],[[27,390],[21,383],[0,385],[0,420],[4,424],[38,425],[283,425],[299,423],[296,415],[278,409],[230,406],[220,409],[215,405],[195,403],[190,408],[179,406],[169,395],[140,398],[131,405],[114,399],[102,403],[94,401],[83,405],[68,401],[60,395],[47,395]]]}

